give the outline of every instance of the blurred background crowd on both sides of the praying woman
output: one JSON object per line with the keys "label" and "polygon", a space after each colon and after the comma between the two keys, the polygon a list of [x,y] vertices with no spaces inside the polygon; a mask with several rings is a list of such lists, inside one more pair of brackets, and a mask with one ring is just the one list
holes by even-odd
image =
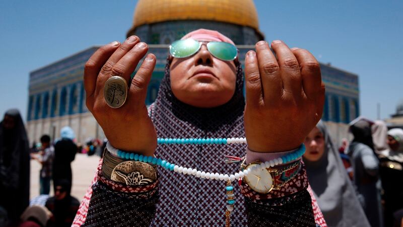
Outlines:
{"label": "blurred background crowd on both sides of the praying woman", "polygon": [[[382,121],[350,123],[353,139],[336,147],[323,122],[305,139],[310,186],[328,226],[403,226],[403,130]],[[79,200],[71,196],[71,162],[77,152],[101,155],[106,141],[76,144],[70,127],[61,138],[29,141],[20,113],[8,110],[0,123],[0,226],[71,226]],[[29,199],[30,159],[38,161],[40,195]],[[54,195],[50,196],[53,185]],[[81,199],[81,198],[79,198]]]}

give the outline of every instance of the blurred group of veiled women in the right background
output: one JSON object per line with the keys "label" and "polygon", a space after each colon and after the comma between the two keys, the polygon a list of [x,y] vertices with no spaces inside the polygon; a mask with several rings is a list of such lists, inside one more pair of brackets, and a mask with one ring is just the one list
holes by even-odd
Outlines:
{"label": "blurred group of veiled women in the right background", "polygon": [[[403,130],[358,118],[337,149],[319,122],[305,139],[307,176],[328,226],[403,226]],[[367,222],[368,221],[368,222]]]}

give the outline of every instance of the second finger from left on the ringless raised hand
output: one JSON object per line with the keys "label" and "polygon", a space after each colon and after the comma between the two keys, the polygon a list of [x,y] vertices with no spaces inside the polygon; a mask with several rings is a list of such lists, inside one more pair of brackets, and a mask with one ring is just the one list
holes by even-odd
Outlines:
{"label": "second finger from left on the ringless raised hand", "polygon": [[283,81],[276,56],[265,41],[256,43],[255,48],[263,90],[263,100],[271,102],[279,100],[283,93]]}

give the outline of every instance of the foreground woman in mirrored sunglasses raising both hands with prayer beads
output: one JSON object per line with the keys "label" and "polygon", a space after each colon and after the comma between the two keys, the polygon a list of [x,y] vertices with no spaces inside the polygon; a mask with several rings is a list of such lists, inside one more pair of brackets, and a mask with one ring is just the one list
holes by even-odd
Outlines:
{"label": "foreground woman in mirrored sunglasses raising both hands with prayer beads", "polygon": [[265,41],[255,47],[245,59],[246,105],[238,51],[217,31],[172,43],[148,108],[152,53],[130,80],[147,44],[130,36],[95,52],[85,68],[87,106],[109,144],[75,224],[325,226],[300,161],[322,114],[319,64],[280,40],[271,43],[274,53]]}

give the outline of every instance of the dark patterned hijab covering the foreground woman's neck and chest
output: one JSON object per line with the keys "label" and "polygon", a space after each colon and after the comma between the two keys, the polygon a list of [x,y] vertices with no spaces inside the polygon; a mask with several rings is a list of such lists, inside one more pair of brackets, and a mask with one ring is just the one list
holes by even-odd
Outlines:
{"label": "dark patterned hijab covering the foreground woman's neck and chest", "polygon": [[[203,32],[203,31],[202,31]],[[221,34],[220,34],[221,35]],[[224,36],[225,37],[225,36]],[[172,93],[170,61],[165,67],[150,116],[159,138],[228,138],[244,137],[243,74],[236,65],[236,89],[227,103],[214,108],[197,108],[179,101]],[[239,171],[239,164],[226,164],[224,155],[244,156],[245,145],[159,145],[155,155],[183,167],[210,173],[230,174]],[[177,175],[159,168],[160,201],[152,226],[224,226],[225,183]],[[235,188],[239,186],[233,183]],[[245,226],[246,213],[240,189],[235,189],[231,220]]]}

